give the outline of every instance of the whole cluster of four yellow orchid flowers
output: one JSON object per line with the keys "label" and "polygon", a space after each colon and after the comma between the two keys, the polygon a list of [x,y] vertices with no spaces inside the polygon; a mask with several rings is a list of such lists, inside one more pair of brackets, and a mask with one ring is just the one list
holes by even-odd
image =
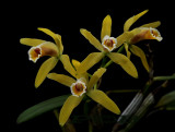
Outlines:
{"label": "whole cluster of four yellow orchid flowers", "polygon": [[[102,75],[106,72],[106,68],[112,62],[119,64],[129,75],[138,77],[137,69],[130,61],[131,53],[138,56],[141,59],[145,70],[149,71],[149,64],[143,50],[135,44],[144,39],[156,39],[161,41],[161,34],[156,29],[156,27],[161,25],[161,22],[152,22],[130,31],[130,26],[147,12],[148,10],[128,19],[124,24],[124,33],[118,37],[110,36],[110,15],[107,15],[103,20],[101,40],[95,38],[91,32],[81,28],[80,33],[90,41],[90,44],[100,50],[100,52],[90,53],[82,62],[79,62],[74,59],[70,61],[69,56],[63,55],[61,36],[52,33],[47,28],[38,29],[51,36],[55,43],[36,38],[20,39],[21,44],[32,47],[28,50],[28,57],[33,62],[36,62],[40,57],[44,56],[50,57],[42,64],[40,69],[38,70],[35,80],[35,87],[38,87],[44,82],[44,80],[48,77],[70,87],[71,89],[71,95],[65,101],[60,110],[60,125],[63,125],[67,122],[72,110],[81,103],[84,96],[89,96],[114,113],[120,113],[117,105],[104,92],[97,89],[96,84]],[[119,50],[115,52],[115,49]],[[127,56],[120,53],[121,49],[126,49]],[[97,69],[92,75],[88,73],[89,69],[91,69],[105,57],[108,57],[110,60],[107,63],[102,64],[102,67]],[[50,73],[59,60],[63,64],[65,70],[68,71],[72,76]]]}

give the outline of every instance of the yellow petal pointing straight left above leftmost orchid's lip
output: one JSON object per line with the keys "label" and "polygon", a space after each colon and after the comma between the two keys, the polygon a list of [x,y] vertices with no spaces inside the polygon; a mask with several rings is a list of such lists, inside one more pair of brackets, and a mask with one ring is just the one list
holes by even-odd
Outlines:
{"label": "yellow petal pointing straight left above leftmost orchid's lip", "polygon": [[42,40],[42,39],[36,39],[36,38],[21,38],[20,43],[23,45],[27,45],[27,46],[38,46],[43,43],[45,43],[46,40]]}

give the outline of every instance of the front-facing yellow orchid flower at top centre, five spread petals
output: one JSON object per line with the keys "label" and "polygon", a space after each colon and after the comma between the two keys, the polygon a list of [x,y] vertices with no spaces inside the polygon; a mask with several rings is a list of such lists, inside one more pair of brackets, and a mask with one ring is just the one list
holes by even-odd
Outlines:
{"label": "front-facing yellow orchid flower at top centre, five spread petals", "polygon": [[112,52],[119,46],[121,46],[127,39],[130,38],[130,33],[125,32],[117,38],[110,37],[112,34],[112,19],[107,15],[102,23],[101,41],[95,38],[89,31],[81,28],[81,34],[101,52],[90,53],[81,63],[79,72],[83,73],[102,60],[105,56],[110,58],[110,60],[119,64],[128,74],[133,77],[138,77],[137,69],[133,63],[122,53]]}

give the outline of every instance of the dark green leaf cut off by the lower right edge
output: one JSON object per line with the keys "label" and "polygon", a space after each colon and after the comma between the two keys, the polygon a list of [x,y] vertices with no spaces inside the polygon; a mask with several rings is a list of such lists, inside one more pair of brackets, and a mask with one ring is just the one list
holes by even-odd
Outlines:
{"label": "dark green leaf cut off by the lower right edge", "polygon": [[165,108],[166,110],[175,110],[175,91],[164,95],[155,106],[156,108]]}

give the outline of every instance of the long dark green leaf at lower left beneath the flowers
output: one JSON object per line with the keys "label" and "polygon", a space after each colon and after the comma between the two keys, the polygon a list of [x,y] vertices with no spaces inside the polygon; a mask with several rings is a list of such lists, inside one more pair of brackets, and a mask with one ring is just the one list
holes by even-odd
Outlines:
{"label": "long dark green leaf at lower left beneath the flowers", "polygon": [[65,103],[65,100],[69,97],[70,95],[62,95],[58,97],[50,98],[48,100],[42,101],[26,110],[24,110],[19,117],[16,122],[22,123],[27,120],[31,120],[37,116],[40,116],[47,111],[50,111],[52,109],[56,109],[58,107],[61,107]]}

